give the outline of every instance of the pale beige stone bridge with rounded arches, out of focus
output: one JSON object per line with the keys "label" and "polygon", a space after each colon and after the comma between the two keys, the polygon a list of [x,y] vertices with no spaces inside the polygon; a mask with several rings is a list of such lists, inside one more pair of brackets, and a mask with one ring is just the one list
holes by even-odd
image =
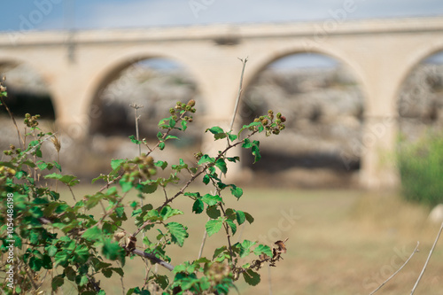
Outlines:
{"label": "pale beige stone bridge with rounded arches, out of focus", "polygon": [[49,85],[58,127],[76,137],[88,135],[100,91],[120,70],[145,58],[186,67],[206,100],[207,118],[221,125],[228,125],[237,97],[237,58],[249,57],[245,87],[278,58],[303,52],[335,58],[354,72],[365,97],[360,176],[369,188],[398,182],[385,155],[395,148],[400,85],[439,50],[443,18],[0,34],[0,64],[33,66]]}

